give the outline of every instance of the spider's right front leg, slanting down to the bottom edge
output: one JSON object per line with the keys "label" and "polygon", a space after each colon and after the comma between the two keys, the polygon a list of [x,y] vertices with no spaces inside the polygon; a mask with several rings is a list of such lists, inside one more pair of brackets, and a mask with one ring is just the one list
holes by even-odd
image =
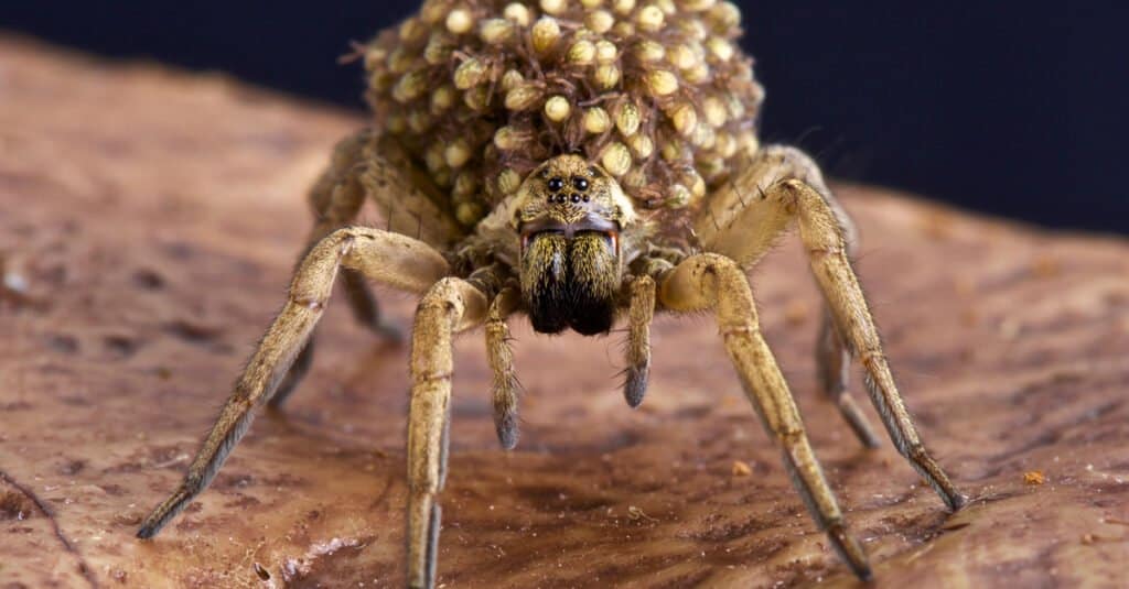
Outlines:
{"label": "spider's right front leg, slanting down to the bottom edge", "polygon": [[753,407],[784,451],[785,466],[812,517],[860,579],[870,578],[863,545],[847,530],[788,385],[761,336],[749,280],[718,254],[691,256],[662,274],[660,302],[676,311],[714,311],[725,349]]}

